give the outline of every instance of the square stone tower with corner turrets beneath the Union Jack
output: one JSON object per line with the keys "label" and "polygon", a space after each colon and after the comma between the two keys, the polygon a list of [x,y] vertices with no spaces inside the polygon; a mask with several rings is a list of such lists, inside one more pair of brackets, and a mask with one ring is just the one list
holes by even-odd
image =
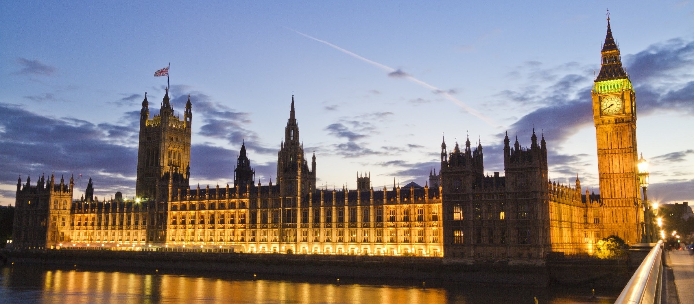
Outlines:
{"label": "square stone tower with corner turrets beneath the Union Jack", "polygon": [[149,101],[145,93],[139,119],[137,199],[170,201],[172,193],[188,189],[192,117],[190,95],[181,120],[174,115],[167,89],[159,115],[149,119]]}

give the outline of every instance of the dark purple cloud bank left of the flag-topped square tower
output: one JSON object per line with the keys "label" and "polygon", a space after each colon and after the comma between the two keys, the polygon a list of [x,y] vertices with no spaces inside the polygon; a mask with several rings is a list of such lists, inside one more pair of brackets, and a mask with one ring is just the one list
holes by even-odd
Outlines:
{"label": "dark purple cloud bank left of the flag-topped square tower", "polygon": [[20,105],[0,103],[0,180],[32,174],[35,182],[40,174],[55,171],[58,179],[61,174],[66,179],[83,174],[108,181],[103,183],[108,188],[99,191],[132,189],[136,134],[129,126],[43,116]]}

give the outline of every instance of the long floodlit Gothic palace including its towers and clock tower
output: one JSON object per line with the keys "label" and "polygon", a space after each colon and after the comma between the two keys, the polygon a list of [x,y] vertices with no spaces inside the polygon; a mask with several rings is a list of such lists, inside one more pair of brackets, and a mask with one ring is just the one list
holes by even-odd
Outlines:
{"label": "long floodlit Gothic palace including its towers and clock tower", "polygon": [[[548,179],[547,146],[504,139],[504,174],[484,173],[482,145],[446,149],[439,174],[421,187],[316,189],[316,155],[305,153],[291,99],[276,184],[255,183],[242,145],[233,185],[191,189],[192,103],[183,120],[165,94],[150,118],[142,101],[135,197],[73,200],[74,180],[17,180],[15,248],[416,255],[459,262],[543,263],[548,255],[591,254],[601,237],[641,239],[636,176],[636,104],[609,19],[592,89],[600,194]],[[587,109],[586,109],[587,110]]]}

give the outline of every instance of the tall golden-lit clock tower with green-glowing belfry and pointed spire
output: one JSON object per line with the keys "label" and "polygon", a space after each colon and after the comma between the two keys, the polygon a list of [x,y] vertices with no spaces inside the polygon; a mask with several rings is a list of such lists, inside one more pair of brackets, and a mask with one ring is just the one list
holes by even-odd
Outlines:
{"label": "tall golden-lit clock tower with green-glowing belfry and pointed spire", "polygon": [[618,235],[635,244],[641,239],[643,218],[636,176],[636,95],[612,37],[609,12],[602,67],[592,95],[600,201],[604,208],[601,237]]}

